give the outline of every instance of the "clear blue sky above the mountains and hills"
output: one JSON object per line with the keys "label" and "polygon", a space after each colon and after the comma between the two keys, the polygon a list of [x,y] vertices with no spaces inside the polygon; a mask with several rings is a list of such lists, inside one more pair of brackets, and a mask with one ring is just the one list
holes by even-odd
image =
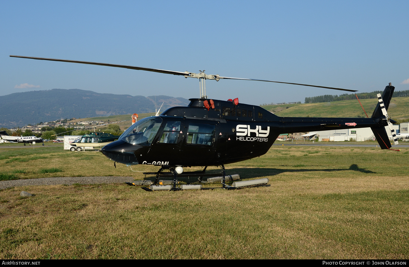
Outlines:
{"label": "clear blue sky above the mountains and hills", "polygon": [[[408,11],[409,1],[1,1],[0,95],[78,88],[199,97],[198,79],[9,55],[409,90]],[[235,80],[207,80],[206,89],[256,105],[344,93]]]}

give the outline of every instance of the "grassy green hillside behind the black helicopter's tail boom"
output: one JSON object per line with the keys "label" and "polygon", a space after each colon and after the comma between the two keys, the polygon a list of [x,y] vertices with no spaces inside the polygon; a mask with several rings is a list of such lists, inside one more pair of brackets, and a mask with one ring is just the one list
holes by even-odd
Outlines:
{"label": "grassy green hillside behind the black helicopter's tail boom", "polygon": [[[371,117],[378,99],[360,100],[366,113]],[[344,100],[327,103],[283,104],[262,106],[280,117],[366,117],[358,100]],[[388,115],[400,122],[409,121],[409,97],[393,97]]]}

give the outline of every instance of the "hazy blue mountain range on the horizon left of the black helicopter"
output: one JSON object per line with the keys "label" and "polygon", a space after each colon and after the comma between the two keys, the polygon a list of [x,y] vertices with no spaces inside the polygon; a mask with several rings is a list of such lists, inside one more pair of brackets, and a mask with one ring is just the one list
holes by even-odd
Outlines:
{"label": "hazy blue mountain range on the horizon left of the black helicopter", "polygon": [[52,89],[0,96],[0,128],[22,127],[57,119],[102,117],[162,111],[173,106],[187,106],[188,99],[157,95],[101,94],[80,89]]}

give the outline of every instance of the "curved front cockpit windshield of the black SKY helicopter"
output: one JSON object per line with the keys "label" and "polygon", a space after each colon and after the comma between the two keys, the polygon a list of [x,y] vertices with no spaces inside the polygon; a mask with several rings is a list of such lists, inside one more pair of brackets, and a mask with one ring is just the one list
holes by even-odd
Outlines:
{"label": "curved front cockpit windshield of the black SKY helicopter", "polygon": [[147,117],[130,126],[119,140],[139,146],[150,146],[162,124],[160,117]]}

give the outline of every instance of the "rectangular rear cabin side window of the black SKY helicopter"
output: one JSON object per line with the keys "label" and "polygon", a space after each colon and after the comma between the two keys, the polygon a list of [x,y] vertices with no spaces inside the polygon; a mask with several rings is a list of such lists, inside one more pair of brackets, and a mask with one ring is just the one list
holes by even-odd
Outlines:
{"label": "rectangular rear cabin side window of the black SKY helicopter", "polygon": [[194,145],[211,146],[213,143],[216,125],[213,124],[189,124],[186,143]]}

